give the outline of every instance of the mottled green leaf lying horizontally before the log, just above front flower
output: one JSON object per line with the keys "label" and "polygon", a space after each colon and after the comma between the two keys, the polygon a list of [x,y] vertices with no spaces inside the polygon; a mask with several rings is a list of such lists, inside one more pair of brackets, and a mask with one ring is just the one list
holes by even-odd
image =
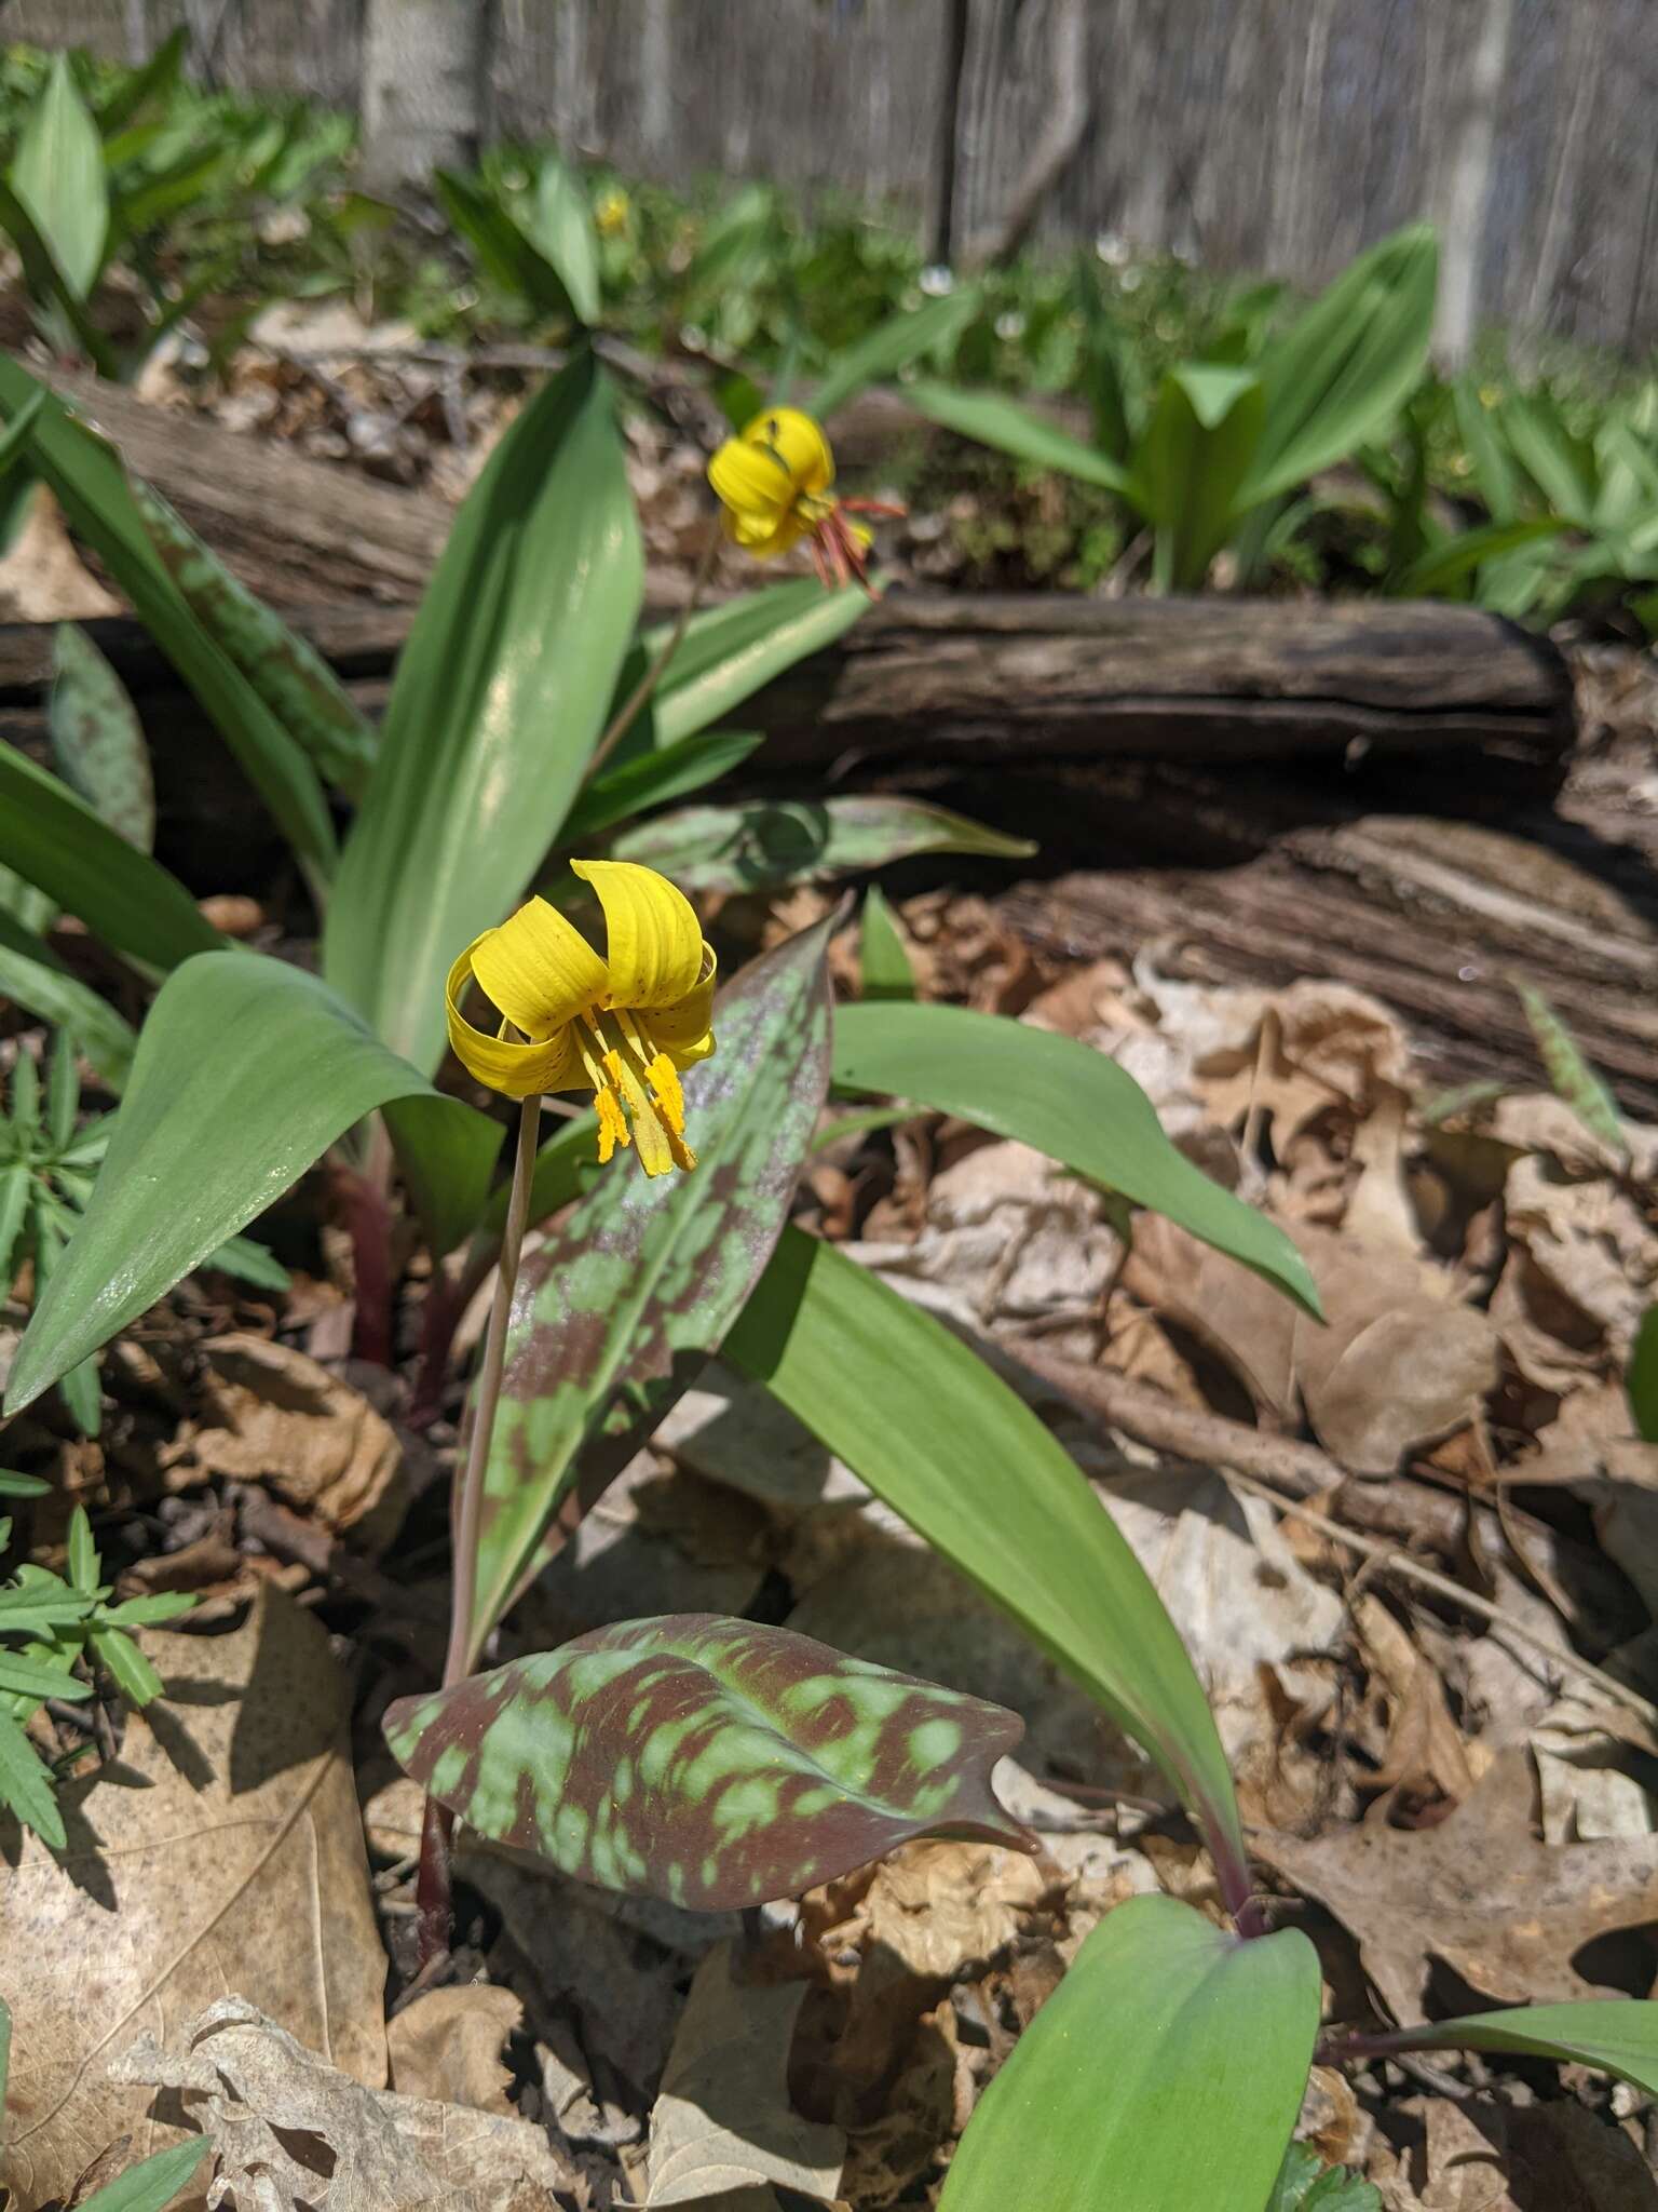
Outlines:
{"label": "mottled green leaf lying horizontally before the log, just above front flower", "polygon": [[643,860],[681,891],[760,891],[778,883],[847,876],[917,852],[973,852],[1026,860],[1037,847],[922,799],[754,799],[676,807],[626,830],[610,852]]}

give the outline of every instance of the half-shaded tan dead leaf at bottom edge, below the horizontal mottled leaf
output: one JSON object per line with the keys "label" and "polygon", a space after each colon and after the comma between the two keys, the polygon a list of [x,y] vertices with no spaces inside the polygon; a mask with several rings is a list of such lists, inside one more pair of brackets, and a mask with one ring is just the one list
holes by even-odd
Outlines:
{"label": "half-shaded tan dead leaf at bottom edge, below the horizontal mottled leaf", "polygon": [[840,2128],[800,2119],[789,2104],[789,2044],[805,1982],[745,1984],[732,1944],[696,1969],[685,2015],[650,2115],[646,2203],[685,2205],[745,2194],[754,2212],[778,2190],[818,2201],[840,2190]]}

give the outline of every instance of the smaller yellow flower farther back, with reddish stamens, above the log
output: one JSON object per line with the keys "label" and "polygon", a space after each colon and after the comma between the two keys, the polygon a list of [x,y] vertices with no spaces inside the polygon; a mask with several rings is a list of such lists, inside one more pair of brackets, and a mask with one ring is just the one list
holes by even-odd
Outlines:
{"label": "smaller yellow flower farther back, with reddish stamens, above the log", "polygon": [[811,562],[822,584],[869,591],[871,533],[847,515],[902,515],[878,500],[838,500],[836,456],[822,425],[798,407],[767,407],[747,429],[727,438],[707,465],[707,480],[725,509],[725,535],[756,560],[787,553],[811,540]]}

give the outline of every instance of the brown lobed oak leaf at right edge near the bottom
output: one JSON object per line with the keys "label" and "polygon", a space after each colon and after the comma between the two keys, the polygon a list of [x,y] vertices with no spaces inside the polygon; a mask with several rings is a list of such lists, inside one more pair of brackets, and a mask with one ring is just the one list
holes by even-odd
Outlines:
{"label": "brown lobed oak leaf at right edge near the bottom", "polygon": [[1256,1854],[1357,1938],[1393,2017],[1424,2017],[1435,1960],[1494,2004],[1616,1997],[1572,1964],[1583,1944],[1658,1920],[1658,1836],[1545,1845],[1525,1752],[1492,1761],[1437,1827],[1349,1827],[1313,1843],[1256,1834]]}

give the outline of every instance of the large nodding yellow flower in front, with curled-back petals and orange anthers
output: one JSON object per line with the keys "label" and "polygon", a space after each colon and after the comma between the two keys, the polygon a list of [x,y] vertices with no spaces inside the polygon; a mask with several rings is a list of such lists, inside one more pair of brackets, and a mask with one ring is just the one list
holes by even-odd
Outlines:
{"label": "large nodding yellow flower in front, with curled-back petals and orange anthers", "polygon": [[[544,898],[473,938],[449,969],[449,1042],[491,1091],[592,1091],[599,1159],[637,1144],[646,1175],[694,1168],[679,1071],[714,1051],[714,953],[696,911],[654,867],[573,860],[604,907],[608,953]],[[460,1011],[478,982],[502,1015],[495,1035]]]}

